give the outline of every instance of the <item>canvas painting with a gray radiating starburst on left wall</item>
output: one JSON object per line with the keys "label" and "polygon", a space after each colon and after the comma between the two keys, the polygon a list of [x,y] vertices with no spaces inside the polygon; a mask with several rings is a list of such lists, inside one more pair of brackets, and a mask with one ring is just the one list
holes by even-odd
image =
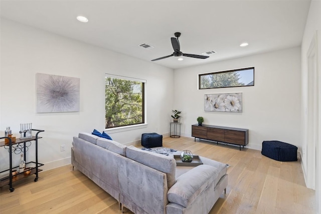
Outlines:
{"label": "canvas painting with a gray radiating starburst on left wall", "polygon": [[79,78],[40,73],[36,77],[38,113],[79,111]]}

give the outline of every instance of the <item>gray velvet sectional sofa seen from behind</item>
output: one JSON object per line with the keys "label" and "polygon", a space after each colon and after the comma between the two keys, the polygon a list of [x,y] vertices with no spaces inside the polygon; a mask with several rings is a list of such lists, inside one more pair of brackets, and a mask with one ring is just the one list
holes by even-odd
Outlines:
{"label": "gray velvet sectional sofa seen from behind", "polygon": [[73,138],[71,163],[134,213],[208,213],[227,186],[227,165],[176,166],[173,156],[88,133]]}

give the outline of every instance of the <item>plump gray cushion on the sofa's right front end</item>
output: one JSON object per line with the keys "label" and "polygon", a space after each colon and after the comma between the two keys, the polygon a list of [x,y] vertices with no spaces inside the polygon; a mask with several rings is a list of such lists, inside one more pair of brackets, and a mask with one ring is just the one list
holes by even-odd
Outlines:
{"label": "plump gray cushion on the sofa's right front end", "polygon": [[167,198],[170,202],[187,207],[217,176],[218,170],[213,166],[199,165],[177,178],[176,183],[169,189]]}

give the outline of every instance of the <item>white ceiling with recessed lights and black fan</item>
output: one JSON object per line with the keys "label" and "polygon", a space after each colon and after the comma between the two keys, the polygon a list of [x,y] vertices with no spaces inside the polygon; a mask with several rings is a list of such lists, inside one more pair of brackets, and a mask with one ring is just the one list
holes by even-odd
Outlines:
{"label": "white ceiling with recessed lights and black fan", "polygon": [[[208,59],[177,57],[152,63],[169,68],[221,61],[301,44],[310,1],[4,1],[1,17],[150,61],[181,51]],[[82,15],[88,23],[80,23]],[[249,46],[240,47],[242,42]],[[147,43],[146,50],[138,45]]]}

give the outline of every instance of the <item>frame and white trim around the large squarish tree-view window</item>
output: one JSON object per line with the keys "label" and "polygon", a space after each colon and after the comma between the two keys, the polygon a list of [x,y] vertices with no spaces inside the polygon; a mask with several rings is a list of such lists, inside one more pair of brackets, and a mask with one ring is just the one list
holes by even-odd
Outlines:
{"label": "frame and white trim around the large squarish tree-view window", "polygon": [[[135,82],[142,83],[142,115],[141,115],[142,122],[130,124],[130,125],[114,126],[114,127],[110,127],[110,128],[105,127],[105,131],[108,131],[108,133],[114,133],[114,132],[120,132],[123,130],[132,130],[132,129],[138,129],[138,128],[145,127],[147,125],[147,122],[146,122],[146,115],[147,115],[146,114],[146,93],[145,93],[147,81],[144,79],[138,79],[138,78],[133,78],[133,77],[105,73],[105,79],[108,77],[114,78],[114,79],[129,80],[129,81],[135,81]],[[105,97],[106,97],[106,92],[105,92]],[[106,114],[105,114],[105,123],[106,123]]]}

